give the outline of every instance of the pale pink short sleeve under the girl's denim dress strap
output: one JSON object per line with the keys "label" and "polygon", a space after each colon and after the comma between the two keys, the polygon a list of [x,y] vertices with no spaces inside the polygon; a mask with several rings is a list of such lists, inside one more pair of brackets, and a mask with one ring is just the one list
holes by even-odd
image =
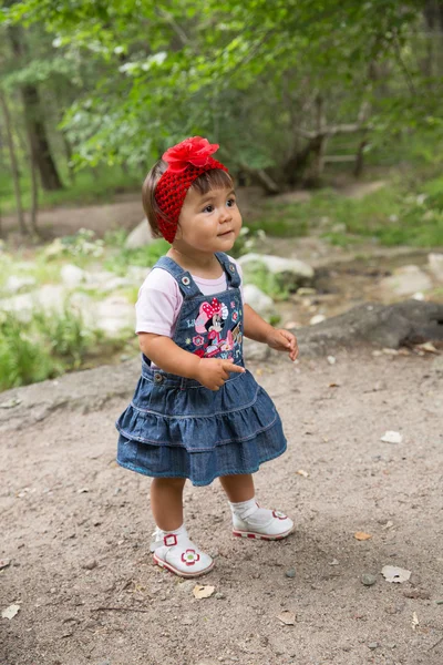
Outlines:
{"label": "pale pink short sleeve under the girl's denim dress strap", "polygon": [[154,268],[138,291],[135,305],[135,332],[154,332],[173,337],[183,296],[174,277]]}

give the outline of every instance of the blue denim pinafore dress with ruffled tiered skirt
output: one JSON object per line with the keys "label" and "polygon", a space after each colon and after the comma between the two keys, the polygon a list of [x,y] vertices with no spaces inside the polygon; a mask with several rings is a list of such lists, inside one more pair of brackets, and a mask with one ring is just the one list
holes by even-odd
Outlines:
{"label": "blue denim pinafore dress with ruffled tiered skirt", "polygon": [[[231,358],[244,366],[240,277],[226,254],[216,256],[227,289],[210,296],[171,258],[156,264],[176,279],[183,295],[173,340],[200,358]],[[276,407],[248,370],[231,372],[214,391],[152,368],[145,356],[134,397],[116,428],[119,464],[155,478],[188,478],[194,485],[253,473],[286,450]]]}

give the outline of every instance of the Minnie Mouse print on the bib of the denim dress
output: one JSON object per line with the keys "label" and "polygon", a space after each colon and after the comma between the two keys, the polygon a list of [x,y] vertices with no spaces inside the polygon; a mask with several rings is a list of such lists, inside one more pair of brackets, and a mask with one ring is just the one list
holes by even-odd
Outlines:
{"label": "Minnie Mouse print on the bib of the denim dress", "polygon": [[[231,301],[231,306],[235,303]],[[200,358],[214,358],[220,356],[223,358],[233,358],[233,349],[239,344],[239,325],[228,328],[226,337],[223,331],[226,324],[235,323],[238,319],[238,313],[231,311],[225,303],[220,303],[217,298],[213,298],[210,303],[202,303],[198,311],[198,317],[195,320],[195,330],[199,335],[193,338],[194,345],[197,347],[194,351]],[[236,337],[234,337],[234,334]]]}

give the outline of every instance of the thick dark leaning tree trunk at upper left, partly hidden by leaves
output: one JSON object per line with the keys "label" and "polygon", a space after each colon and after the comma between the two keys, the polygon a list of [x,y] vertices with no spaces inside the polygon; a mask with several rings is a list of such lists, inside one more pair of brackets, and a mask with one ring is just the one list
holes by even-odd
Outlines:
{"label": "thick dark leaning tree trunk at upper left, partly hidden by leaves", "polygon": [[[19,25],[11,25],[8,28],[8,33],[16,58],[23,59],[25,47],[22,39],[22,29]],[[52,157],[43,122],[39,91],[34,84],[25,83],[20,86],[20,92],[23,100],[24,120],[31,142],[32,157],[39,168],[42,187],[47,191],[62,190],[63,185]]]}

